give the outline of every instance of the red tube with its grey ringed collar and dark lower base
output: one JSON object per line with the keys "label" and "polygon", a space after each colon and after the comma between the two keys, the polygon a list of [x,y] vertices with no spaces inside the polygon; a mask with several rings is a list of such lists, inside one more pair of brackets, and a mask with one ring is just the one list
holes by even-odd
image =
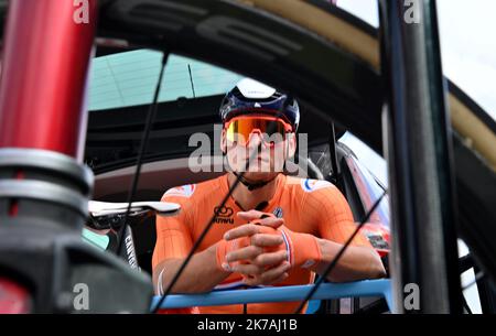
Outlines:
{"label": "red tube with its grey ringed collar and dark lower base", "polygon": [[[97,0],[75,3],[9,3],[0,82],[0,269],[33,289],[34,313],[142,313],[150,279],[82,240],[94,181],[82,161]],[[112,300],[104,301],[109,289]],[[88,295],[82,305],[73,301],[75,290]]]}

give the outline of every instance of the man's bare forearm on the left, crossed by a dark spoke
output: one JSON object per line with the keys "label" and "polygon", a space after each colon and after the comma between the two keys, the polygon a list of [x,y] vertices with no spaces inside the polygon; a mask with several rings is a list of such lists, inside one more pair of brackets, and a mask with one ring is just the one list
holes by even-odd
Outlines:
{"label": "man's bare forearm on the left, crossed by a dark spoke", "polygon": [[[153,285],[157,294],[161,294],[168,289],[183,261],[184,259],[169,259],[155,267],[153,270]],[[209,292],[228,275],[228,272],[219,271],[216,267],[214,245],[193,256],[174,284],[172,293]]]}

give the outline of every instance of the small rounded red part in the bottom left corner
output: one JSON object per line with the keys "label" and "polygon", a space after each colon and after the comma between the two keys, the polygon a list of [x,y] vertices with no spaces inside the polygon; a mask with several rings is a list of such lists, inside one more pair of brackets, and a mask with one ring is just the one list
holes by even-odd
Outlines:
{"label": "small rounded red part in the bottom left corner", "polygon": [[28,314],[31,312],[29,291],[6,278],[0,278],[0,314]]}

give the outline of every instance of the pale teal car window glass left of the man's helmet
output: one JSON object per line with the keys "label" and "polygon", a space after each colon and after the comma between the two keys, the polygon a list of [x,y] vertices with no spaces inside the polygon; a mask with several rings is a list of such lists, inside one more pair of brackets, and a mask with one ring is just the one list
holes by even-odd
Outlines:
{"label": "pale teal car window glass left of the man's helmet", "polygon": [[[151,104],[162,53],[150,50],[95,57],[91,64],[89,110]],[[171,54],[159,102],[226,93],[240,75],[193,58]]]}

